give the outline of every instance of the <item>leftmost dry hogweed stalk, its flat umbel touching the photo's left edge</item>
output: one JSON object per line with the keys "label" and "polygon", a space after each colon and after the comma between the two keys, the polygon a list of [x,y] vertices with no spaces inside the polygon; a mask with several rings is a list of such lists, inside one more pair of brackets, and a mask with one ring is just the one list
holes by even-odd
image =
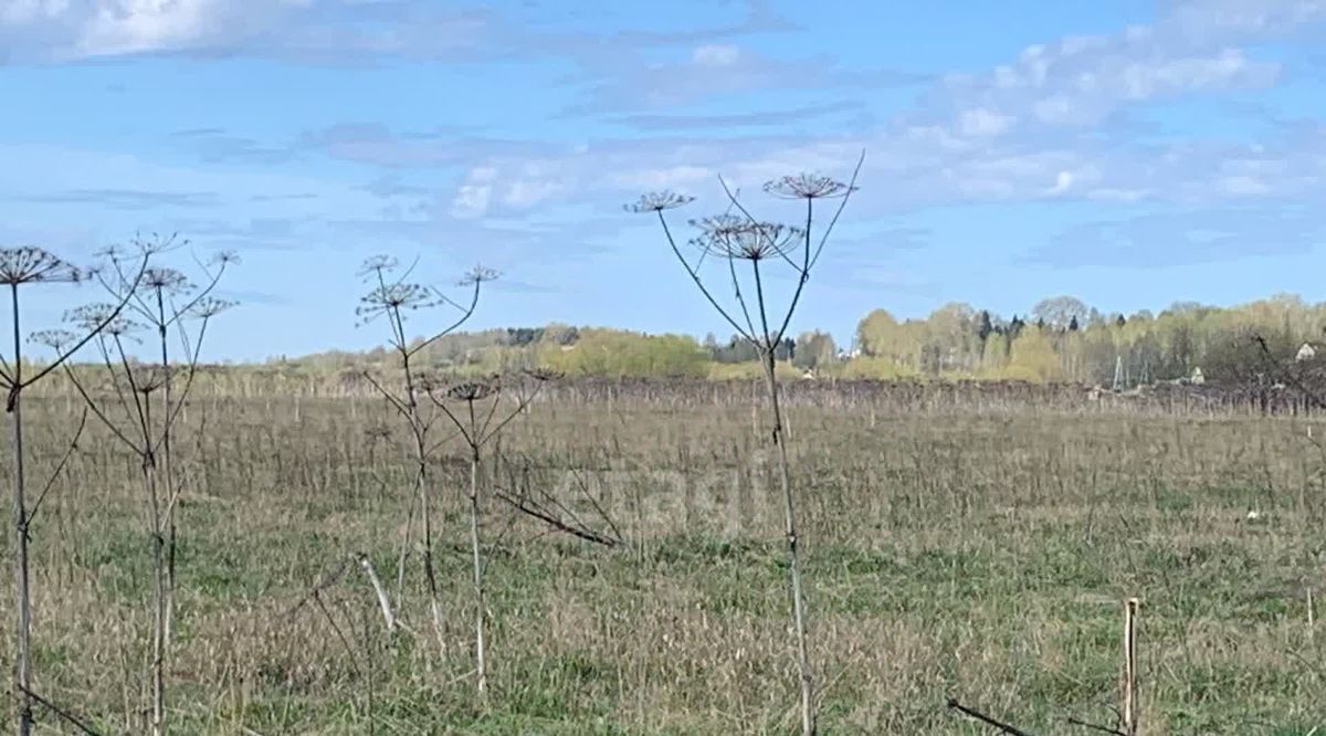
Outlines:
{"label": "leftmost dry hogweed stalk, its flat umbel touching the photo's left edge", "polygon": [[[141,253],[141,259],[131,273],[126,272],[126,278],[137,284],[147,268],[150,252]],[[30,538],[32,520],[36,515],[34,504],[28,508],[27,477],[24,476],[24,446],[23,446],[23,393],[32,387],[52,371],[65,366],[68,361],[88,342],[102,333],[119,313],[125,309],[127,300],[109,305],[101,320],[82,325],[78,334],[69,333],[68,339],[61,341],[53,357],[48,358],[41,367],[33,367],[30,375],[24,373],[23,354],[23,305],[21,292],[29,286],[53,284],[78,284],[86,280],[88,273],[81,271],[61,257],[34,247],[3,248],[0,249],[0,284],[9,286],[9,325],[13,338],[12,361],[0,353],[0,387],[5,390],[5,411],[9,414],[9,430],[12,438],[13,468],[12,468],[12,499],[13,499],[13,525],[15,525],[15,611],[17,626],[15,631],[15,664],[13,683],[15,699],[19,702],[19,717],[15,720],[20,736],[27,736],[33,728],[33,703],[38,696],[32,691],[32,597],[29,589],[28,569],[28,542]],[[81,428],[80,428],[81,434]],[[76,440],[77,442],[77,440]],[[62,469],[64,463],[57,468]],[[49,489],[49,484],[46,485]]]}

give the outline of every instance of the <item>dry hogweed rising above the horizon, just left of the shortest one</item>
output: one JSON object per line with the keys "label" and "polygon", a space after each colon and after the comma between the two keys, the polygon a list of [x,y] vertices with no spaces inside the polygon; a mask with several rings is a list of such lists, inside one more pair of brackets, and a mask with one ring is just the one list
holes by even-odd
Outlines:
{"label": "dry hogweed rising above the horizon, just left of the shortest one", "polygon": [[[440,289],[411,281],[412,273],[414,265],[402,268],[399,261],[389,256],[375,256],[365,261],[359,269],[359,275],[369,284],[369,293],[361,297],[355,314],[359,317],[361,325],[371,322],[386,325],[387,345],[396,358],[395,367],[400,371],[402,385],[399,389],[394,389],[385,381],[374,378],[371,371],[365,371],[363,375],[387,403],[391,404],[410,431],[414,487],[406,505],[406,522],[402,530],[400,554],[396,561],[398,607],[402,610],[404,607],[406,565],[410,558],[414,519],[415,513],[418,513],[422,526],[420,554],[423,557],[424,582],[428,587],[428,607],[432,617],[432,627],[439,648],[446,651],[442,598],[438,591],[438,576],[434,565],[432,488],[428,461],[436,450],[451,438],[435,440],[432,436],[438,416],[432,411],[426,410],[426,406],[420,402],[420,394],[426,393],[426,383],[428,382],[427,371],[423,370],[420,363],[423,362],[423,351],[428,346],[469,321],[479,306],[479,296],[483,292],[483,285],[497,278],[497,272],[483,267],[475,267],[467,272],[457,284],[459,288],[467,292],[465,301],[455,301]],[[406,332],[411,316],[440,308],[453,310],[450,321],[440,329],[431,332],[427,337],[411,339]]]}

